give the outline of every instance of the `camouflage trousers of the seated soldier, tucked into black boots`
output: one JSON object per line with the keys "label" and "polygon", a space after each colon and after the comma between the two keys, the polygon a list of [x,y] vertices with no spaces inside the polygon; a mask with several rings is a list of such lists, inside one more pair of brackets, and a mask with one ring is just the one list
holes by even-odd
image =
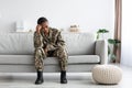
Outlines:
{"label": "camouflage trousers of the seated soldier, tucked into black boots", "polygon": [[58,58],[61,70],[66,70],[67,66],[67,52],[64,50],[64,47],[58,47],[55,51],[48,51],[47,54],[45,54],[43,48],[35,48],[35,68],[36,70],[43,72],[44,69],[44,62],[48,56],[54,56]]}

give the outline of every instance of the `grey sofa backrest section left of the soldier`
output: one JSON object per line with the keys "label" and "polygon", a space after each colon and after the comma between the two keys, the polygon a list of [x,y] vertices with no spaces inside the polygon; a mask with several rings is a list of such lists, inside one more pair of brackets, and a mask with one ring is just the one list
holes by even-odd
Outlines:
{"label": "grey sofa backrest section left of the soldier", "polygon": [[32,33],[1,33],[0,55],[29,55],[33,54]]}

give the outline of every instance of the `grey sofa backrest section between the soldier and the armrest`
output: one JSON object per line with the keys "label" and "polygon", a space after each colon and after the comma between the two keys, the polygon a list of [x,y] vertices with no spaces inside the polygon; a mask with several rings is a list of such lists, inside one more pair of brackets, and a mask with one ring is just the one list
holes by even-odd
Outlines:
{"label": "grey sofa backrest section between the soldier and the armrest", "polygon": [[95,35],[91,33],[62,34],[69,55],[91,55],[95,50]]}

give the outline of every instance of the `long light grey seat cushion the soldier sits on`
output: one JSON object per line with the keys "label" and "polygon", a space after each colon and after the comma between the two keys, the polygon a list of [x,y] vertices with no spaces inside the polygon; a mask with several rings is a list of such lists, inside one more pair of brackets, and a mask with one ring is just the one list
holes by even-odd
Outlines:
{"label": "long light grey seat cushion the soldier sits on", "polygon": [[[89,64],[89,63],[100,63],[98,55],[77,55],[69,56],[68,64]],[[0,64],[34,64],[33,55],[0,55]],[[47,57],[44,59],[45,65],[58,64],[57,57]]]}

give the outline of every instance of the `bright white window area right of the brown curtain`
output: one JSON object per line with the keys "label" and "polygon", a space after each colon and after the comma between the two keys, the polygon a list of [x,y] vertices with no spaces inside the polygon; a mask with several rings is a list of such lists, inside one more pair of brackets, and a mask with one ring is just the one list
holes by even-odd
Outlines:
{"label": "bright white window area right of the brown curtain", "polygon": [[132,66],[132,1],[122,0],[121,64]]}

